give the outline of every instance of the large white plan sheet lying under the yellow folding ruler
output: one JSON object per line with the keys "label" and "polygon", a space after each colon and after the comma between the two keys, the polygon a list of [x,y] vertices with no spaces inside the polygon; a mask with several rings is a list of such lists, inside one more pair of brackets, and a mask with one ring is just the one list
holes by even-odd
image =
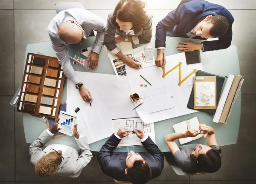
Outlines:
{"label": "large white plan sheet lying under the yellow folding ruler", "polygon": [[[193,69],[203,70],[201,63],[186,65],[184,53],[170,55],[166,57],[165,72],[181,62],[181,80],[193,72]],[[157,66],[150,66],[142,69],[126,69],[132,93],[140,95],[140,101],[144,102],[136,110],[140,118],[145,123],[153,123],[177,116],[198,112],[187,108],[189,96],[193,86],[191,75],[181,86],[179,83],[179,68],[177,67],[165,78],[162,77],[163,70]],[[152,86],[150,86],[142,75]],[[140,86],[146,84],[147,87]]]}

